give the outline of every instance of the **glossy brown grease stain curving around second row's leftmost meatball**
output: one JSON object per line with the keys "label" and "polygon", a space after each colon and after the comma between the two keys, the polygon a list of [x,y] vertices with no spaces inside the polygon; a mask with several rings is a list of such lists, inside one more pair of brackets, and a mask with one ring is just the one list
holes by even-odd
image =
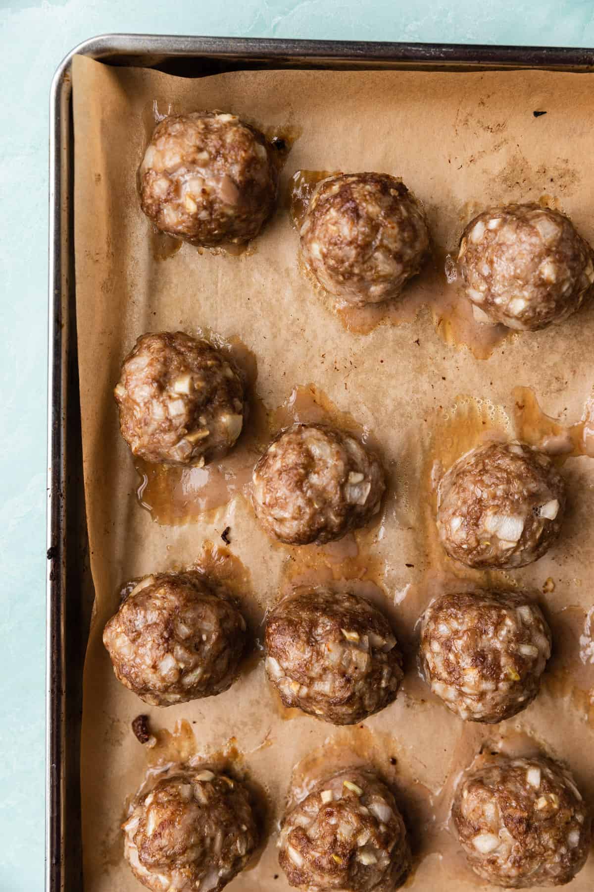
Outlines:
{"label": "glossy brown grease stain curving around second row's leftmost meatball", "polygon": [[262,401],[256,394],[257,363],[255,354],[231,338],[224,343],[212,333],[199,336],[227,351],[246,380],[248,417],[238,442],[224,458],[205,467],[152,465],[142,458],[134,459],[140,476],[136,497],[158,524],[176,526],[196,523],[207,512],[215,511],[243,493],[251,479],[252,469],[267,438],[267,419]]}

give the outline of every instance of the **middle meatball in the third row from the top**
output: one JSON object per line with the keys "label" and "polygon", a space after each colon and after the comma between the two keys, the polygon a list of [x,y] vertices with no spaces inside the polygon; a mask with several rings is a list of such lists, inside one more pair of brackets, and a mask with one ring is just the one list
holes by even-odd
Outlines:
{"label": "middle meatball in the third row from the top", "polygon": [[403,678],[386,617],[348,592],[304,589],[282,599],[266,621],[265,648],[284,705],[333,724],[377,713]]}

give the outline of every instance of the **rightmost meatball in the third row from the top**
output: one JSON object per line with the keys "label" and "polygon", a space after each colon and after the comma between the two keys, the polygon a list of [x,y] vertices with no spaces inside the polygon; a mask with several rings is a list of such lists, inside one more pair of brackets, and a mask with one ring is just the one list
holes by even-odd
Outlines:
{"label": "rightmost meatball in the third row from the top", "polygon": [[516,591],[442,595],[421,622],[427,682],[471,722],[502,722],[532,703],[550,645],[540,607]]}

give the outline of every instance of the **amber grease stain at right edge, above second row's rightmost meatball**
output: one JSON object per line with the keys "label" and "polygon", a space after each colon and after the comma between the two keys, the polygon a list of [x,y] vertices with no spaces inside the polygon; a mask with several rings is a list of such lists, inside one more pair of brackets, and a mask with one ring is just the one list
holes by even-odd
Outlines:
{"label": "amber grease stain at right edge, above second row's rightmost meatball", "polygon": [[512,395],[518,440],[548,452],[557,464],[579,455],[594,458],[594,397],[586,402],[581,421],[563,425],[542,411],[532,387],[514,387]]}

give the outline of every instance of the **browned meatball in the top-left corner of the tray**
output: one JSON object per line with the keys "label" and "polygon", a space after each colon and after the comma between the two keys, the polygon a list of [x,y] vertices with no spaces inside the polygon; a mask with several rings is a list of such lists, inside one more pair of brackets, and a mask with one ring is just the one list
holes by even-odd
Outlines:
{"label": "browned meatball in the top-left corner of the tray", "polygon": [[278,171],[263,134],[232,114],[162,120],[139,171],[141,207],[193,244],[248,242],[273,212]]}

